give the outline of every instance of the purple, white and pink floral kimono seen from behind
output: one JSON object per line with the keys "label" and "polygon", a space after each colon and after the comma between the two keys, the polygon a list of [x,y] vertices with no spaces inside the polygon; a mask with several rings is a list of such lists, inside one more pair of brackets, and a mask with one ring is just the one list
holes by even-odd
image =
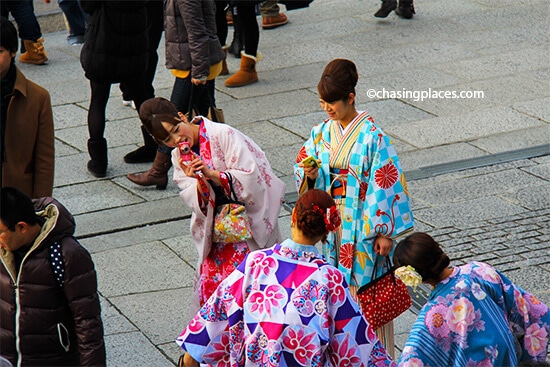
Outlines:
{"label": "purple, white and pink floral kimono seen from behind", "polygon": [[176,341],[210,366],[395,366],[314,246],[249,253]]}

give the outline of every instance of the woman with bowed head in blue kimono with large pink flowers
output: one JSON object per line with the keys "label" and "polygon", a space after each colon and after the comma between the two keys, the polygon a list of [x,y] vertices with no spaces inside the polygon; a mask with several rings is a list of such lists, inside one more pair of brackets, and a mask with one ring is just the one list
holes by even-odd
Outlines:
{"label": "woman with bowed head in blue kimono with large pink flowers", "polygon": [[434,287],[399,359],[400,366],[517,366],[543,364],[550,338],[548,307],[492,266],[449,267],[449,257],[426,233],[414,233],[394,252]]}

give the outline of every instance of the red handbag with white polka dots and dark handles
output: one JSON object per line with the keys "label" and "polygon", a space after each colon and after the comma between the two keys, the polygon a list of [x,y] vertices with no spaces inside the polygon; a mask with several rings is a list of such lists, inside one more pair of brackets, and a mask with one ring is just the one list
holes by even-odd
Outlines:
{"label": "red handbag with white polka dots and dark handles", "polygon": [[373,280],[357,291],[363,314],[374,330],[386,325],[412,305],[407,286],[395,276],[389,256],[386,256],[386,268],[388,270],[384,274],[373,279],[375,263],[371,276]]}

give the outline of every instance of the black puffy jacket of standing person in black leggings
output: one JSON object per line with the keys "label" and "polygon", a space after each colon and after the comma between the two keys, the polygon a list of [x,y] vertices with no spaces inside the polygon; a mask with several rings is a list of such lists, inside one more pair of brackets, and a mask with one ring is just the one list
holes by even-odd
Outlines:
{"label": "black puffy jacket of standing person in black leggings", "polygon": [[81,0],[90,14],[80,63],[86,78],[118,83],[147,69],[147,1]]}

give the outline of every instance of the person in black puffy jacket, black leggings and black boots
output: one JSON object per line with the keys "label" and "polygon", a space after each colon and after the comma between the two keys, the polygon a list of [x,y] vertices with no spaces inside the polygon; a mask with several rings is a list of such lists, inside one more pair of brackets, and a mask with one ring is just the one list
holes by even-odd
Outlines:
{"label": "person in black puffy jacket, black leggings and black boots", "polygon": [[[88,110],[88,171],[95,177],[107,174],[107,141],[105,109],[111,84],[124,83],[131,91],[137,110],[147,95],[146,71],[148,58],[147,1],[81,0],[89,14],[80,63],[90,80],[91,99]],[[154,156],[157,144],[143,133],[147,150]]]}

